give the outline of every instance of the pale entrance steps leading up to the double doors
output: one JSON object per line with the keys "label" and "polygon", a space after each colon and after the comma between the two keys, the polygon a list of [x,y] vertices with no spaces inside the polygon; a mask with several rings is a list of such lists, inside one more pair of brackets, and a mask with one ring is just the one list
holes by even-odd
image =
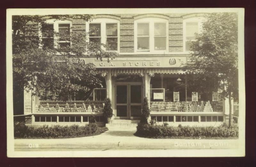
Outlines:
{"label": "pale entrance steps leading up to the double doors", "polygon": [[136,127],[140,120],[130,120],[130,119],[113,119],[110,124],[106,124],[108,128],[117,127]]}

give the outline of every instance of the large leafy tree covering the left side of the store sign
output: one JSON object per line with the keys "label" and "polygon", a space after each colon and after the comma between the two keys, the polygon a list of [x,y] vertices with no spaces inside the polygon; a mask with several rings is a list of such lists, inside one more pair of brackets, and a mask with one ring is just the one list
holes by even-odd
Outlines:
{"label": "large leafy tree covering the left side of the store sign", "polygon": [[[89,34],[83,27],[79,31],[69,30],[55,32],[47,24],[47,19],[91,21],[92,15],[17,15],[12,17],[12,60],[13,60],[13,95],[14,108],[22,102],[22,92],[32,90],[41,100],[68,100],[78,92],[88,92],[102,86],[93,64],[79,63],[79,57],[87,53],[89,56],[108,61],[117,53],[105,51],[107,45],[87,42]],[[47,35],[42,41],[38,32]],[[68,33],[67,33],[68,31]],[[70,33],[69,33],[70,32]],[[59,39],[69,41],[60,45]],[[63,41],[64,41],[63,40]],[[66,44],[66,45],[65,45]],[[34,91],[35,90],[35,91]],[[17,107],[16,109],[18,109]]]}

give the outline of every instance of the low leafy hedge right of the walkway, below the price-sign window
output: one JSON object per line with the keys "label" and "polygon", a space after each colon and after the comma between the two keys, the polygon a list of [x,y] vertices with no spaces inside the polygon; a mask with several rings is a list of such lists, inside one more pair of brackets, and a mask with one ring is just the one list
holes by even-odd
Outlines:
{"label": "low leafy hedge right of the walkway, below the price-sign window", "polygon": [[235,125],[228,128],[223,124],[220,126],[181,126],[173,127],[167,124],[141,124],[137,126],[135,133],[137,136],[148,138],[179,138],[179,137],[192,137],[192,138],[237,138],[238,127]]}

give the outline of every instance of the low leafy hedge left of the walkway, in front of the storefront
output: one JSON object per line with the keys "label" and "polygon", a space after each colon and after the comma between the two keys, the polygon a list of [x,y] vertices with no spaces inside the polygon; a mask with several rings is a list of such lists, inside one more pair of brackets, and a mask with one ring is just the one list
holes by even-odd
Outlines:
{"label": "low leafy hedge left of the walkway, in front of the storefront", "polygon": [[85,126],[43,125],[35,128],[33,126],[26,126],[24,122],[15,122],[14,138],[68,138],[92,136],[107,130],[107,127],[98,127],[95,123],[90,123]]}

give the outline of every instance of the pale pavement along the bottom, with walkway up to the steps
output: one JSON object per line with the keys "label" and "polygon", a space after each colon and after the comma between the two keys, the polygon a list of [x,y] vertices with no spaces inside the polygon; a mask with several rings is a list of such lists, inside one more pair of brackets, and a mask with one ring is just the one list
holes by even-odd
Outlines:
{"label": "pale pavement along the bottom, with walkway up to the steps", "polygon": [[135,127],[111,128],[97,136],[69,139],[15,139],[15,151],[109,149],[220,149],[237,148],[238,140],[148,139],[134,136]]}

